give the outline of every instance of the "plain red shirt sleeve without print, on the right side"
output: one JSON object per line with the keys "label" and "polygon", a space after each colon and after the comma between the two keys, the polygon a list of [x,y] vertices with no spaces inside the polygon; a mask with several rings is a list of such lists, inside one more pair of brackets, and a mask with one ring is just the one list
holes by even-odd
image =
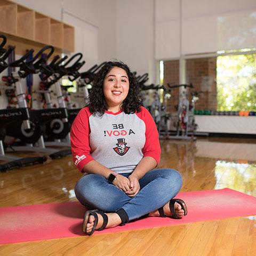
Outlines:
{"label": "plain red shirt sleeve without print, on the right side", "polygon": [[141,108],[141,113],[138,114],[141,114],[141,119],[146,125],[146,142],[142,149],[143,156],[153,157],[158,164],[161,156],[161,148],[155,121],[149,111],[144,107]]}

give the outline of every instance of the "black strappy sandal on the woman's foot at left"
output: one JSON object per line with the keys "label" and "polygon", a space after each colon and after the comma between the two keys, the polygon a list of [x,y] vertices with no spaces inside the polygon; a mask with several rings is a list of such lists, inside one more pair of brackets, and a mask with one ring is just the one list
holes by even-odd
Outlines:
{"label": "black strappy sandal on the woman's foot at left", "polygon": [[[87,211],[87,212],[85,212],[85,214],[84,214],[84,221],[83,221],[83,228],[82,228],[83,232],[84,232],[86,235],[89,235],[89,236],[90,236],[90,235],[92,235],[93,232],[96,230],[96,227],[97,227],[98,221],[99,221],[99,218],[98,218],[97,213],[100,214],[100,215],[102,216],[102,218],[103,218],[103,224],[102,224],[102,226],[101,226],[99,229],[97,229],[97,230],[98,230],[98,231],[101,231],[101,230],[103,230],[103,229],[106,228],[106,226],[107,226],[107,224],[108,224],[108,215],[107,215],[107,214],[105,214],[105,213],[103,213],[103,212],[101,212],[101,211],[99,211],[99,210]],[[88,220],[89,220],[90,215],[93,215],[95,220],[94,220],[94,224],[93,224],[93,227],[92,227],[91,232],[87,233],[87,232],[86,232],[86,225],[87,225],[87,223],[88,223]]]}

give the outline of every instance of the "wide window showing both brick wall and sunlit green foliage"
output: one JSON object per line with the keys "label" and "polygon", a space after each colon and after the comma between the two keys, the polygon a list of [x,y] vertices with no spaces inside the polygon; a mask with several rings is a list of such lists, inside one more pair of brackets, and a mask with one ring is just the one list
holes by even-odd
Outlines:
{"label": "wide window showing both brick wall and sunlit green foliage", "polygon": [[[164,61],[164,84],[179,83],[178,65],[178,60]],[[256,111],[256,49],[221,51],[217,57],[188,58],[186,83],[194,86],[188,90],[189,100],[191,92],[198,93],[196,110]],[[174,93],[173,90],[172,106],[177,105],[179,97]]]}

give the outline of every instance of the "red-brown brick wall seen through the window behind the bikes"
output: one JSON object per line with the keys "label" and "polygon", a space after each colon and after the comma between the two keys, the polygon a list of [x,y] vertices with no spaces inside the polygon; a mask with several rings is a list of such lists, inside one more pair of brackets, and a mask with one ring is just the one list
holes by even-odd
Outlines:
{"label": "red-brown brick wall seen through the window behind the bikes", "polygon": [[[217,58],[200,58],[186,60],[186,83],[192,83],[194,88],[187,89],[189,101],[191,92],[198,93],[196,109],[217,110],[217,85],[216,85]],[[164,61],[164,85],[167,83],[179,84],[179,60]],[[167,111],[175,112],[179,102],[179,89],[171,90],[171,99],[167,101]]]}

